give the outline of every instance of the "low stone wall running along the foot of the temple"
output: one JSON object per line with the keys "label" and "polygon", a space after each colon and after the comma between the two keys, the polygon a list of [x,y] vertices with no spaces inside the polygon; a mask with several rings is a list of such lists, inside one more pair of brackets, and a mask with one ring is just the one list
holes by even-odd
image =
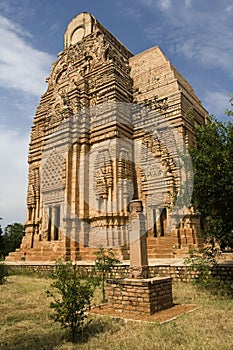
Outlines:
{"label": "low stone wall running along the foot of the temple", "polygon": [[[12,273],[17,272],[39,272],[41,275],[47,275],[55,270],[54,263],[7,263]],[[88,273],[97,273],[93,263],[77,263],[80,270]],[[192,282],[197,277],[196,271],[189,271],[186,265],[150,265],[151,277],[172,277],[174,282]],[[213,275],[221,280],[233,281],[233,262],[220,263],[213,269]],[[116,265],[109,274],[109,278],[125,278],[129,274],[129,264]]]}

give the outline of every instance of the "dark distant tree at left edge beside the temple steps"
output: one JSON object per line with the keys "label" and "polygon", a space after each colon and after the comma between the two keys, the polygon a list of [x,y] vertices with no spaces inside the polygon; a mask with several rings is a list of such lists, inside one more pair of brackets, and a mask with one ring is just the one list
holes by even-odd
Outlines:
{"label": "dark distant tree at left edge beside the temple steps", "polygon": [[24,227],[20,223],[13,223],[7,225],[3,235],[3,256],[8,255],[10,252],[15,251],[20,247],[22,238],[24,236]]}

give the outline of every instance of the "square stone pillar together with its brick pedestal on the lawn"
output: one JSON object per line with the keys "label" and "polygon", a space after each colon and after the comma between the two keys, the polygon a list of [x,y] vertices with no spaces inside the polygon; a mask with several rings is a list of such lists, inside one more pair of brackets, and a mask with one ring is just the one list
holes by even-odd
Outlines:
{"label": "square stone pillar together with its brick pedestal on the lawn", "polygon": [[108,305],[116,312],[153,315],[173,306],[172,278],[150,278],[142,202],[130,203],[130,273],[107,281]]}

